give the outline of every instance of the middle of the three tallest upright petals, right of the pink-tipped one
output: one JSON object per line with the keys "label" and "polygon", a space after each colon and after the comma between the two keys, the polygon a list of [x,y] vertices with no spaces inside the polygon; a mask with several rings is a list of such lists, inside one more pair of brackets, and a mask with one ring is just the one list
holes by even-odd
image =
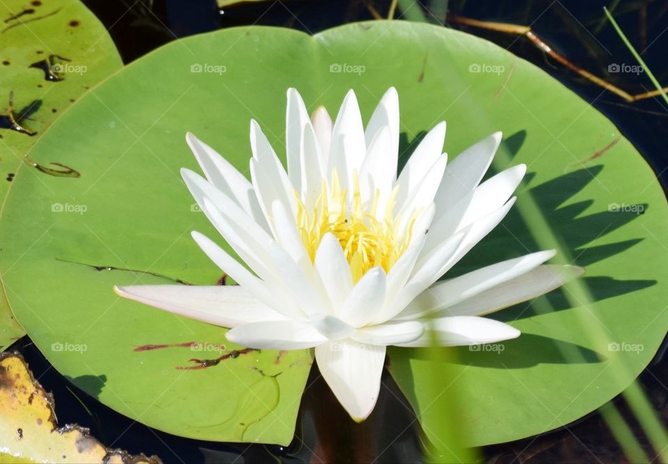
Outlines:
{"label": "middle of the three tallest upright petals, right of the pink-tipped one", "polygon": [[[360,172],[367,151],[360,107],[353,91],[343,100],[332,131],[332,144],[328,160],[328,178],[336,169],[341,188],[352,185],[353,170]],[[350,192],[352,195],[352,192]]]}

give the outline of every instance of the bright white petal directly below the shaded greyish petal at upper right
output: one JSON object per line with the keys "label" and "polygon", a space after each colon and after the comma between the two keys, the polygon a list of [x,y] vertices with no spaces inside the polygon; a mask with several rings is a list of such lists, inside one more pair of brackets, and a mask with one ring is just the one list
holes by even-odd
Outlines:
{"label": "bright white petal directly below the shaded greyish petal at upper right", "polygon": [[[461,231],[472,222],[503,206],[512,196],[526,170],[525,164],[518,164],[489,178],[456,203],[440,205],[442,211],[440,215],[438,211],[436,212],[434,224],[431,226],[431,230],[434,231],[432,240],[438,240],[438,236],[452,235],[456,231]],[[429,242],[427,247],[433,245],[433,242]]]}

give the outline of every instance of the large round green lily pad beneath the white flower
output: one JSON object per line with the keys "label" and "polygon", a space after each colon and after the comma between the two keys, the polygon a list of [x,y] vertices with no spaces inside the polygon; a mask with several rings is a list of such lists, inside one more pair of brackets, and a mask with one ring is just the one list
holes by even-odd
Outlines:
{"label": "large round green lily pad beneath the white flower", "polygon": [[[0,221],[0,269],[15,289],[15,314],[54,366],[100,401],[177,435],[292,438],[308,351],[175,369],[205,357],[190,353],[190,342],[201,350],[225,343],[224,329],[111,291],[221,277],[189,237],[193,229],[216,233],[179,177],[180,167],[197,169],[184,134],[247,172],[250,118],[284,155],[290,86],[310,110],[331,112],[355,88],[365,118],[396,86],[404,147],[441,120],[452,154],[504,131],[493,169],[525,162],[530,174],[511,215],[456,272],[551,245],[587,266],[578,285],[589,304],[567,290],[498,313],[523,335],[503,348],[450,352],[458,364],[440,389],[425,385],[434,366],[424,351],[390,350],[390,372],[432,438],[442,402],[459,405],[472,445],[555,428],[619,393],[657,350],[668,322],[666,286],[655,280],[668,258],[656,240],[668,232],[665,196],[617,128],[546,73],[485,40],[408,22],[349,24],[313,38],[237,28],[180,42],[130,64],[57,121],[32,155],[75,165],[81,178],[22,176]],[[609,211],[614,204],[621,206]],[[136,351],[157,343],[183,346]],[[226,344],[222,353],[239,348]],[[105,376],[101,391],[100,382],[84,381],[91,375]],[[247,408],[253,398],[261,403]],[[248,417],[238,419],[242,411]]]}

